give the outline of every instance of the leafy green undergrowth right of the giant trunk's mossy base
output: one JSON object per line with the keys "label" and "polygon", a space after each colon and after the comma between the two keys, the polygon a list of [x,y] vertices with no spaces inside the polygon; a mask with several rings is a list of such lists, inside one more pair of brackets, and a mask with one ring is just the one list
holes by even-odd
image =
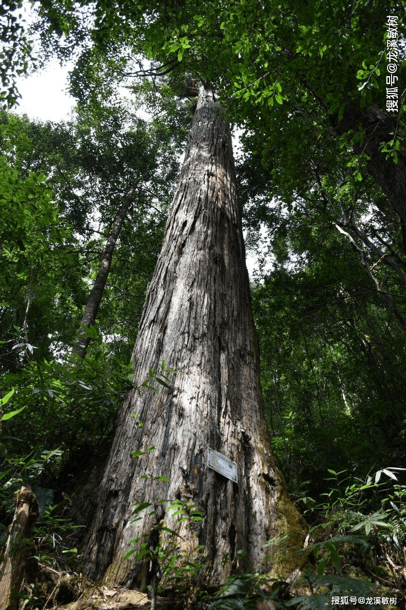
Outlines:
{"label": "leafy green undergrowth right of the giant trunk's mossy base", "polygon": [[329,475],[318,500],[305,491],[296,497],[309,523],[307,569],[292,583],[233,575],[209,610],[405,607],[404,469],[382,468],[365,479],[332,469]]}

